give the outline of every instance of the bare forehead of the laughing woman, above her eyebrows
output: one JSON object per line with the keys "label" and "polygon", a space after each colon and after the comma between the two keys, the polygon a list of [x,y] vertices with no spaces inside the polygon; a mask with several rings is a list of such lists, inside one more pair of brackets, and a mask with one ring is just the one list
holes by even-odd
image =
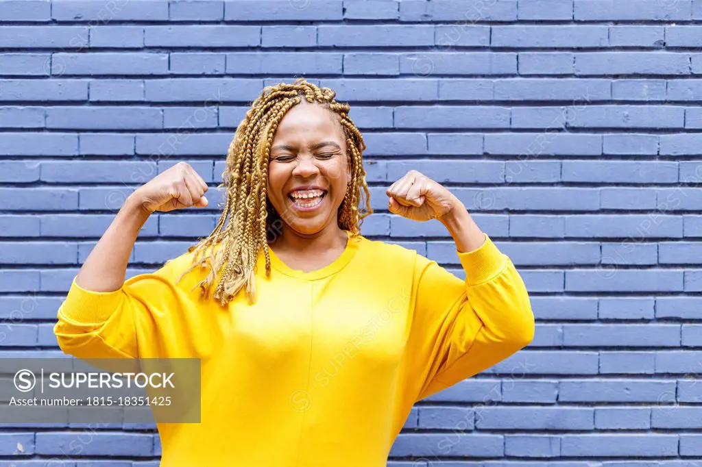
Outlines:
{"label": "bare forehead of the laughing woman, above her eyebrows", "polygon": [[338,116],[319,104],[303,100],[290,109],[280,121],[275,139],[288,137],[336,137],[343,140]]}

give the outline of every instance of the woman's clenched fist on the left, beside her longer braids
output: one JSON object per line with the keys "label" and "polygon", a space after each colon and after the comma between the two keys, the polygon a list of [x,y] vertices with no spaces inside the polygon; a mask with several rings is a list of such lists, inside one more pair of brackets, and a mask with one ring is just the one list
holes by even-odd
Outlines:
{"label": "woman's clenched fist on the left, beside her longer braids", "polygon": [[179,162],[136,189],[130,197],[145,212],[204,208],[207,184],[187,162]]}

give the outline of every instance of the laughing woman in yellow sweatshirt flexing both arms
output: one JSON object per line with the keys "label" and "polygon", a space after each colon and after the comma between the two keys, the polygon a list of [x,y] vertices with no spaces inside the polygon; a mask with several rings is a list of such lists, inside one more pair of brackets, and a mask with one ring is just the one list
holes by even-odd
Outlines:
{"label": "laughing woman in yellow sweatshirt flexing both arms", "polygon": [[129,196],[58,311],[74,356],[201,359],[201,423],[158,424],[161,466],[385,466],[414,402],[533,339],[515,266],[442,185],[410,170],[388,209],[442,222],[465,281],[359,234],[365,144],[334,96],[304,79],[265,88],[212,233],[123,283],[152,212],[208,204],[189,165],[166,170]]}

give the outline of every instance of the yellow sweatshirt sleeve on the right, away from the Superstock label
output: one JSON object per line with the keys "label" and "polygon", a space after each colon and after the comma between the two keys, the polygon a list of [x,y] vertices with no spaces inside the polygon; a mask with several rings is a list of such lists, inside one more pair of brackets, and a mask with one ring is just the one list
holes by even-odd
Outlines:
{"label": "yellow sweatshirt sleeve on the right, away from the Superstock label", "polygon": [[471,377],[534,339],[529,295],[514,264],[489,236],[459,252],[461,280],[417,255],[408,363],[415,400]]}

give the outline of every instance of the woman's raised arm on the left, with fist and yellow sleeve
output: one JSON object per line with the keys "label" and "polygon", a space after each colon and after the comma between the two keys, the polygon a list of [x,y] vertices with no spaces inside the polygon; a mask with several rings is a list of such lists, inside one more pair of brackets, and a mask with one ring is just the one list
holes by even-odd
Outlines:
{"label": "woman's raised arm on the left, with fist and yellow sleeve", "polygon": [[179,163],[128,196],[74,277],[58,310],[54,334],[60,348],[79,358],[138,358],[139,339],[154,338],[158,313],[182,306],[169,264],[125,282],[129,255],[154,211],[207,205],[207,185]]}

